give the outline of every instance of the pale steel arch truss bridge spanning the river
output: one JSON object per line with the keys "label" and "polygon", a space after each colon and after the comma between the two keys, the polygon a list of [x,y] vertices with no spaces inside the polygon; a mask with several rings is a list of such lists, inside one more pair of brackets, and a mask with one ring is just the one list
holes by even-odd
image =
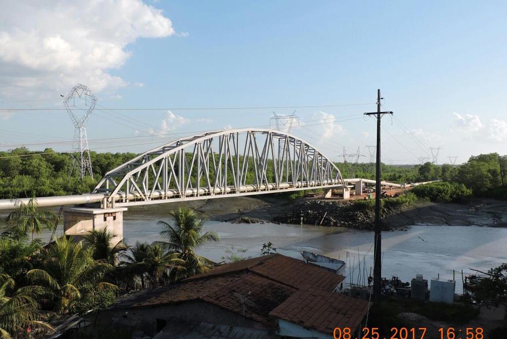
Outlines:
{"label": "pale steel arch truss bridge spanning the river", "polygon": [[314,146],[266,129],[211,131],[170,141],[107,172],[102,208],[246,196],[343,184]]}

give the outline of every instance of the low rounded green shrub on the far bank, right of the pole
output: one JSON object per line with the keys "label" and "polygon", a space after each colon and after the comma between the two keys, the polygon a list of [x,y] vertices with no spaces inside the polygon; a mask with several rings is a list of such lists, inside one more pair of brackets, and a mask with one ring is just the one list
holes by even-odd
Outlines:
{"label": "low rounded green shrub on the far bank, right of the pole", "polygon": [[472,191],[462,183],[447,181],[418,185],[411,192],[418,198],[427,198],[436,202],[457,201],[472,195]]}

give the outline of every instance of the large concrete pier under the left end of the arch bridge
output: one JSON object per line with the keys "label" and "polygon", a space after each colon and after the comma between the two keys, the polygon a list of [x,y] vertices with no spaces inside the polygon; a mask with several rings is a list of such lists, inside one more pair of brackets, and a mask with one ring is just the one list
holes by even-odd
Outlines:
{"label": "large concrete pier under the left end of the arch bridge", "polygon": [[107,229],[113,234],[111,245],[123,239],[123,212],[127,208],[65,207],[63,230],[65,235],[81,240],[92,230]]}

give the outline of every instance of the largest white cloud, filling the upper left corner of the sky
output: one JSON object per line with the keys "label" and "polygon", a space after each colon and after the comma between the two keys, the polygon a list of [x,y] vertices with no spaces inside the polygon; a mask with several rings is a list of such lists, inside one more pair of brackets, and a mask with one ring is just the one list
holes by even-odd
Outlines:
{"label": "largest white cloud, filling the upper left corner of the sky", "polygon": [[0,94],[44,97],[78,83],[94,92],[127,86],[108,70],[125,64],[128,44],[174,33],[171,20],[141,0],[3,2]]}

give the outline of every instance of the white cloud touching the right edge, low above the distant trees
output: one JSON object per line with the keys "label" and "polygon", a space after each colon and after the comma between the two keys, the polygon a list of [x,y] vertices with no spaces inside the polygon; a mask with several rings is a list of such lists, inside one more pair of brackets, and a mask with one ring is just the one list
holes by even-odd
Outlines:
{"label": "white cloud touching the right edge, low above the distant trees", "polygon": [[507,141],[507,121],[490,119],[482,123],[479,116],[461,116],[454,112],[456,120],[454,126],[458,131],[464,132],[465,138],[474,138],[478,141],[503,142]]}

